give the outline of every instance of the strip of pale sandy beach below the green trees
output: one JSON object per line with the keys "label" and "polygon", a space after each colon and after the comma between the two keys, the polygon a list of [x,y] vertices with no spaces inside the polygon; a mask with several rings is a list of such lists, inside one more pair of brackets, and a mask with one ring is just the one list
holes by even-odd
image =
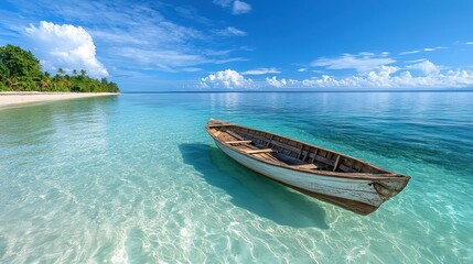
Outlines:
{"label": "strip of pale sandy beach below the green trees", "polygon": [[118,96],[119,92],[42,92],[42,91],[1,91],[0,110],[10,107],[23,107],[35,103],[62,101],[89,97]]}

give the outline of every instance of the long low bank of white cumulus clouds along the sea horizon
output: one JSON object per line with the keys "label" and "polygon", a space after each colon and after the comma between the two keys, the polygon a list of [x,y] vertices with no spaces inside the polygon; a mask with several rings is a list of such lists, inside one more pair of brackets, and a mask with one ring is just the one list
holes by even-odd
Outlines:
{"label": "long low bank of white cumulus clouds along the sea horizon", "polygon": [[[411,72],[412,70],[412,72]],[[473,86],[473,70],[444,69],[428,59],[407,66],[380,65],[369,72],[345,77],[323,74],[307,79],[287,79],[276,76],[247,79],[233,69],[211,74],[201,79],[205,88],[462,88]]]}

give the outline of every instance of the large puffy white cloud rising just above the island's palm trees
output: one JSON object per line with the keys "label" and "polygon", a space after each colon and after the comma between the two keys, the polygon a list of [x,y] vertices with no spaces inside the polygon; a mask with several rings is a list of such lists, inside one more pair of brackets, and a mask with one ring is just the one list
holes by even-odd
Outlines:
{"label": "large puffy white cloud rising just above the island's palm trees", "polygon": [[85,69],[94,77],[108,76],[107,69],[96,57],[92,36],[82,26],[41,21],[39,28],[31,24],[25,32],[37,48],[35,53],[45,70]]}

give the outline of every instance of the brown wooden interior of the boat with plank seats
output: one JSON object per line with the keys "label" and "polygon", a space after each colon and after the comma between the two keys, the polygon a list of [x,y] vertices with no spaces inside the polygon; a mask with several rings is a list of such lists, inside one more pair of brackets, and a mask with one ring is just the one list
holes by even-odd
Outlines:
{"label": "brown wooden interior of the boat with plank seats", "polygon": [[259,160],[307,170],[391,174],[369,163],[284,136],[233,124],[209,124],[221,142]]}

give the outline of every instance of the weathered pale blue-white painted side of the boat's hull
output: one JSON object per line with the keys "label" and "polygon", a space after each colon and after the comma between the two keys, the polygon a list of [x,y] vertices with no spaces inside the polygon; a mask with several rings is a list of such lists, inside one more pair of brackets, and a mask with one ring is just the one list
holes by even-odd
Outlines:
{"label": "weathered pale blue-white painted side of the boat's hull", "polygon": [[273,166],[250,158],[226,145],[215,144],[241,165],[300,193],[341,206],[359,215],[375,211],[385,200],[370,179],[327,177]]}

